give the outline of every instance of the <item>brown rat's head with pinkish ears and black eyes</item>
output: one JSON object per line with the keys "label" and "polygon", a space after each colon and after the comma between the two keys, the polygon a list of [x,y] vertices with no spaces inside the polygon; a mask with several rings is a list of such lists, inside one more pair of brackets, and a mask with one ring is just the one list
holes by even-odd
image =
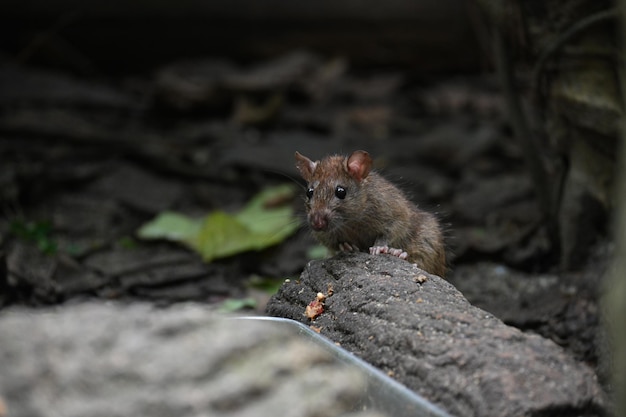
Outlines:
{"label": "brown rat's head with pinkish ears and black eyes", "polygon": [[296,152],[296,167],[307,182],[305,204],[314,231],[333,231],[363,207],[361,186],[372,168],[367,152],[354,151],[348,157],[329,156],[315,162]]}

